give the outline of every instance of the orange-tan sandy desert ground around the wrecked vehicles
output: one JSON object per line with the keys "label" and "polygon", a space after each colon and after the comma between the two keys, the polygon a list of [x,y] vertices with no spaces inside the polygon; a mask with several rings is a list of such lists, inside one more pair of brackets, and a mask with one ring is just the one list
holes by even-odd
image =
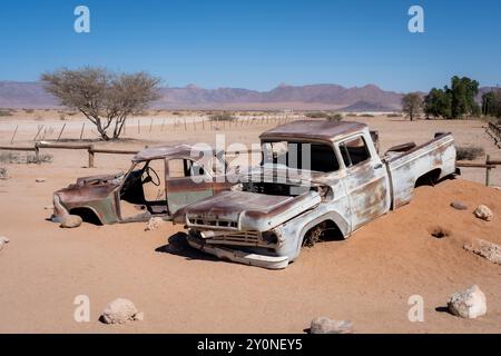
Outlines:
{"label": "orange-tan sandy desert ground around the wrecked vehicles", "polygon": [[[383,149],[450,130],[460,144],[482,145],[499,155],[479,121],[358,120],[380,130]],[[220,132],[227,134],[228,142],[249,144],[272,126],[206,131],[157,127],[148,135],[130,135],[124,144],[107,145],[213,142]],[[0,129],[0,142],[11,134]],[[27,145],[31,134],[20,132],[19,144]],[[178,234],[183,228],[170,224],[155,231],[145,231],[144,224],[59,228],[46,220],[51,211],[43,209],[51,205],[52,191],[79,176],[125,170],[130,157],[101,155],[97,168],[88,169],[85,152],[49,152],[55,155],[52,164],[8,165],[11,178],[0,180],[0,236],[10,238],[0,251],[0,333],[303,333],[321,315],[353,320],[356,333],[501,332],[500,266],[462,248],[472,238],[501,244],[498,189],[463,179],[419,188],[409,206],[345,241],[304,248],[296,263],[273,271],[194,251]],[[464,178],[480,182],[483,175],[464,171]],[[38,177],[46,181],[35,182]],[[501,185],[499,172],[494,179]],[[469,210],[450,208],[452,200],[465,202]],[[492,208],[492,221],[473,216],[479,204]],[[432,237],[436,226],[451,235]],[[464,320],[444,313],[449,296],[472,284],[487,295],[487,316]],[[90,323],[73,320],[78,295],[90,298]],[[407,319],[411,295],[424,298],[424,323]],[[145,312],[145,320],[100,324],[100,312],[117,297],[131,299]]]}

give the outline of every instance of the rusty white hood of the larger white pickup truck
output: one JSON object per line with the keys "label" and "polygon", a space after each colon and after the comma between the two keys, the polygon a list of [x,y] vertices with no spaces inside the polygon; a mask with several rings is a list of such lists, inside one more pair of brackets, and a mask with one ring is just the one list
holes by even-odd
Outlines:
{"label": "rusty white hood of the larger white pickup truck", "polygon": [[321,202],[317,191],[296,197],[223,191],[179,209],[174,221],[202,229],[269,230]]}

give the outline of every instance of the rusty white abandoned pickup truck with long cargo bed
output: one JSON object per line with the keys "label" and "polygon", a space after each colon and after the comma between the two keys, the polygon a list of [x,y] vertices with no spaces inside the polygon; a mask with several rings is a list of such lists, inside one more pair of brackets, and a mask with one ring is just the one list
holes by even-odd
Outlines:
{"label": "rusty white abandoned pickup truck with long cargo bed", "polygon": [[[295,121],[259,138],[259,167],[243,174],[230,190],[175,214],[174,222],[189,229],[191,247],[236,263],[285,268],[304,244],[347,238],[410,202],[415,186],[456,172],[450,134],[421,146],[400,145],[382,157],[367,126],[358,122]],[[307,169],[301,156],[310,156]]]}

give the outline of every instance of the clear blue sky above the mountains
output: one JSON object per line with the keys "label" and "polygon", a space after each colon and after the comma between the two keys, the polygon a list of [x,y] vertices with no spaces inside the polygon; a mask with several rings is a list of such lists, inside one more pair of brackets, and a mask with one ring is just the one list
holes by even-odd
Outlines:
{"label": "clear blue sky above the mountains", "polygon": [[[73,9],[90,9],[90,33]],[[424,33],[407,10],[424,8]],[[375,83],[429,90],[453,75],[501,83],[499,0],[2,0],[0,80],[59,67],[147,70],[169,87],[269,90]]]}

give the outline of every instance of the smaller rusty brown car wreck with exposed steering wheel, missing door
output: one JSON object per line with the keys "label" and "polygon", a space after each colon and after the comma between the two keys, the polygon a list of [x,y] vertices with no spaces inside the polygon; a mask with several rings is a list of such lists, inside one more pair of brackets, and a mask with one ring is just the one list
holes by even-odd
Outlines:
{"label": "smaller rusty brown car wreck with exposed steering wheel, missing door", "polygon": [[[195,176],[204,179],[194,181]],[[52,221],[69,214],[98,224],[147,221],[154,216],[169,220],[177,209],[229,189],[232,184],[217,176],[194,158],[191,146],[147,148],[132,158],[127,174],[78,178],[56,191]]]}

